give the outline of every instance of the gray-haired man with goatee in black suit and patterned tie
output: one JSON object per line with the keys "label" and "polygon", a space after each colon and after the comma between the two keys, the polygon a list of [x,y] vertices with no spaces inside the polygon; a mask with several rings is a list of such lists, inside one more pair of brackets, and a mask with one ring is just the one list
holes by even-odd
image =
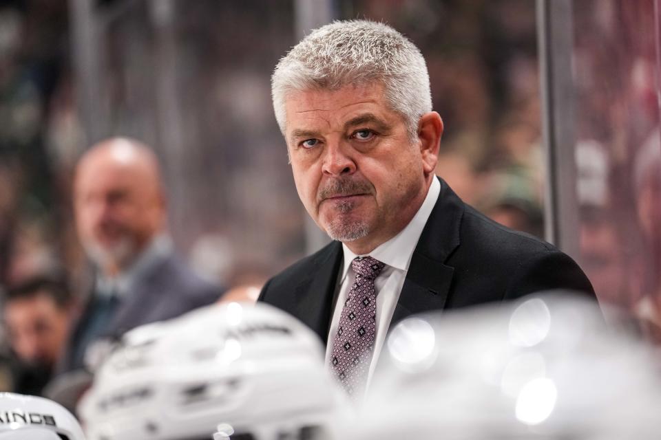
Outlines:
{"label": "gray-haired man with goatee in black suit and patterned tie", "polygon": [[306,36],[272,78],[273,107],[306,210],[334,241],[260,295],[327,344],[346,391],[373,375],[411,314],[547,289],[594,291],[569,256],[490,221],[434,176],[443,122],[423,56],[382,23]]}

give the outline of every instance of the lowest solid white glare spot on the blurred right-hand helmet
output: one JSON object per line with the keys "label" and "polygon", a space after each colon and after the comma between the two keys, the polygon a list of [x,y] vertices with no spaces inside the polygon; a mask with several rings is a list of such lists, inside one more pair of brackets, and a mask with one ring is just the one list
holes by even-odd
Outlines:
{"label": "lowest solid white glare spot on the blurred right-hand helmet", "polygon": [[556,406],[556,384],[546,377],[528,382],[516,399],[516,419],[526,425],[537,425],[549,418]]}

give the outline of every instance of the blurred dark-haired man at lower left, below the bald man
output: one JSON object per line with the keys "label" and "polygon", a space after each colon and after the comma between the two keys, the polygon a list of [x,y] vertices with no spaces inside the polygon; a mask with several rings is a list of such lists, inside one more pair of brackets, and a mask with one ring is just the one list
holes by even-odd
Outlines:
{"label": "blurred dark-haired man at lower left, below the bald man", "polygon": [[34,278],[8,289],[3,320],[17,357],[12,391],[41,394],[65,345],[71,318],[72,296],[61,281]]}

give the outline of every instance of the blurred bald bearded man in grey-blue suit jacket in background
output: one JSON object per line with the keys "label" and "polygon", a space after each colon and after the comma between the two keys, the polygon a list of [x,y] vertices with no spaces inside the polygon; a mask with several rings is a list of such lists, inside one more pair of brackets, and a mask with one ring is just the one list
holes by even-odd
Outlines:
{"label": "blurred bald bearded man in grey-blue suit jacket in background", "polygon": [[138,325],[218,300],[176,256],[156,155],[126,138],[93,146],[74,180],[78,237],[96,267],[94,289],[72,331],[63,371],[91,367]]}

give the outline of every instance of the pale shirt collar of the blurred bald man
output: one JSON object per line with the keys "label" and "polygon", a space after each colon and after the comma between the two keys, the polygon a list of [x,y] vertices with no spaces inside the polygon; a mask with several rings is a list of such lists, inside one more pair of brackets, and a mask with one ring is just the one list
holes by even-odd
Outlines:
{"label": "pale shirt collar of the blurred bald man", "polygon": [[172,239],[165,234],[160,234],[151,240],[147,248],[140,253],[136,261],[129,266],[127,270],[121,272],[112,278],[104,276],[99,272],[96,277],[96,290],[100,294],[123,296],[136,283],[136,280],[143,276],[159,261],[165,259],[172,253]]}

